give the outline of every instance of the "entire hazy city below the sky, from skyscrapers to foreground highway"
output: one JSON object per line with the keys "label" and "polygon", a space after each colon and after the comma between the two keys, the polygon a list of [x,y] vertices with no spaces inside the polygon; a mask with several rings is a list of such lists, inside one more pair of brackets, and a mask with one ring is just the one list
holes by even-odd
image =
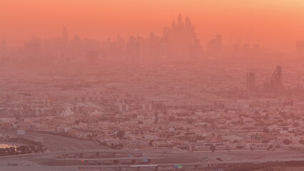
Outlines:
{"label": "entire hazy city below the sky, from skyscrapers to foreground highway", "polygon": [[161,36],[61,29],[1,41],[0,170],[304,168],[303,40],[202,43],[181,14]]}

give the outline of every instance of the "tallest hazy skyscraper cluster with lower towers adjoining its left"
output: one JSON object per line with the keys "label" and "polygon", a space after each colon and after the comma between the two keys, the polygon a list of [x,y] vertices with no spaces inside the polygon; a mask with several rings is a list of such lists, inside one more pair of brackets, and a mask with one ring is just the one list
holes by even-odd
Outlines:
{"label": "tallest hazy skyscraper cluster with lower towers adjoining its left", "polygon": [[194,25],[188,17],[178,15],[171,28],[163,28],[163,36],[156,36],[153,31],[148,38],[130,36],[126,41],[126,59],[145,61],[159,59],[185,60],[201,55],[201,44],[194,31]]}

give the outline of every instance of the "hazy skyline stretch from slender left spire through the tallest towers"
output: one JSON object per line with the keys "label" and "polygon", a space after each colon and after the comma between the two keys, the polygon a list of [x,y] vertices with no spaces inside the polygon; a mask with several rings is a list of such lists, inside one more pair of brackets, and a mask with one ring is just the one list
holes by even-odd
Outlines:
{"label": "hazy skyline stretch from slender left spire through the tallest towers", "polygon": [[[216,36],[216,44],[221,44],[221,36]],[[0,42],[0,55],[5,43]],[[98,61],[143,61],[158,62],[160,60],[186,61],[201,57],[201,44],[194,31],[194,25],[188,17],[178,15],[177,22],[163,28],[163,36],[157,36],[151,31],[148,37],[129,36],[123,39],[117,36],[115,41],[95,41],[90,38],[74,36],[69,38],[69,32],[62,26],[58,38],[32,38],[24,42],[24,56],[21,61],[35,66],[50,64],[66,64],[87,62],[96,65]]]}

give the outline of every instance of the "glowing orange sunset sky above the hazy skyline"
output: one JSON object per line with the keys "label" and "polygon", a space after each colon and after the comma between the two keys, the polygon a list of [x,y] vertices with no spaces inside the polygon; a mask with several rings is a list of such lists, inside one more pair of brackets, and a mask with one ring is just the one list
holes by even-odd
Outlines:
{"label": "glowing orange sunset sky above the hazy skyline", "polygon": [[161,35],[179,13],[196,25],[204,48],[217,33],[229,44],[236,30],[248,43],[286,51],[304,38],[303,0],[0,0],[0,40],[21,46],[32,35],[59,36],[62,24],[70,38]]}

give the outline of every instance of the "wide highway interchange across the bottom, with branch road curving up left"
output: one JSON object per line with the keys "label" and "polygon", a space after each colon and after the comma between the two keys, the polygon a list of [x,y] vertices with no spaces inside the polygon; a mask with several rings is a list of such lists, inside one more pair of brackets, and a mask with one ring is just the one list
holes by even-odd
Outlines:
{"label": "wide highway interchange across the bottom, with branch road curving up left", "polygon": [[[151,165],[159,165],[159,167],[173,167],[174,165],[194,166],[194,165],[208,165],[208,164],[234,164],[234,163],[255,163],[268,161],[304,161],[304,154],[302,151],[279,149],[276,151],[223,151],[223,152],[186,152],[174,149],[146,149],[146,150],[111,150],[99,147],[93,142],[87,140],[78,140],[74,138],[64,138],[58,135],[45,135],[42,133],[29,133],[27,138],[34,138],[42,136],[50,142],[45,141],[44,144],[52,148],[49,152],[33,153],[25,155],[11,155],[0,157],[0,171],[69,171],[78,170],[77,163],[73,165],[44,165],[44,161],[64,161],[64,160],[88,160],[88,161],[109,161],[108,165],[98,165],[105,170],[113,170],[117,167],[126,166],[126,170],[133,170],[128,167],[131,164],[113,165],[114,160],[148,160],[151,159]],[[62,139],[61,139],[62,138]],[[51,140],[55,139],[55,140]],[[62,141],[59,141],[62,140]],[[76,142],[76,143],[74,143]],[[59,143],[51,145],[52,143]],[[86,146],[88,145],[88,146]],[[58,149],[56,149],[56,147]],[[62,146],[62,147],[61,147]],[[69,147],[70,146],[70,147]],[[79,147],[79,148],[78,148]],[[75,150],[76,149],[76,150]],[[81,154],[91,153],[88,157],[81,157]],[[64,158],[64,155],[70,155],[69,158]],[[115,155],[113,155],[115,154]],[[97,155],[100,155],[99,157]],[[106,155],[106,156],[105,156]],[[126,157],[131,155],[131,157]],[[138,157],[140,156],[140,157]],[[59,159],[58,157],[61,157]],[[93,158],[94,157],[94,158]],[[203,157],[208,157],[210,162],[203,160]],[[216,160],[221,157],[223,162]],[[111,161],[113,160],[113,162]],[[17,166],[9,166],[9,163],[16,163]],[[142,163],[139,163],[142,164]],[[139,165],[138,163],[134,165]],[[149,163],[150,164],[150,163]],[[86,167],[96,167],[86,165]],[[106,169],[107,168],[107,169]],[[112,169],[111,169],[112,168]],[[154,170],[153,166],[148,168]]]}

